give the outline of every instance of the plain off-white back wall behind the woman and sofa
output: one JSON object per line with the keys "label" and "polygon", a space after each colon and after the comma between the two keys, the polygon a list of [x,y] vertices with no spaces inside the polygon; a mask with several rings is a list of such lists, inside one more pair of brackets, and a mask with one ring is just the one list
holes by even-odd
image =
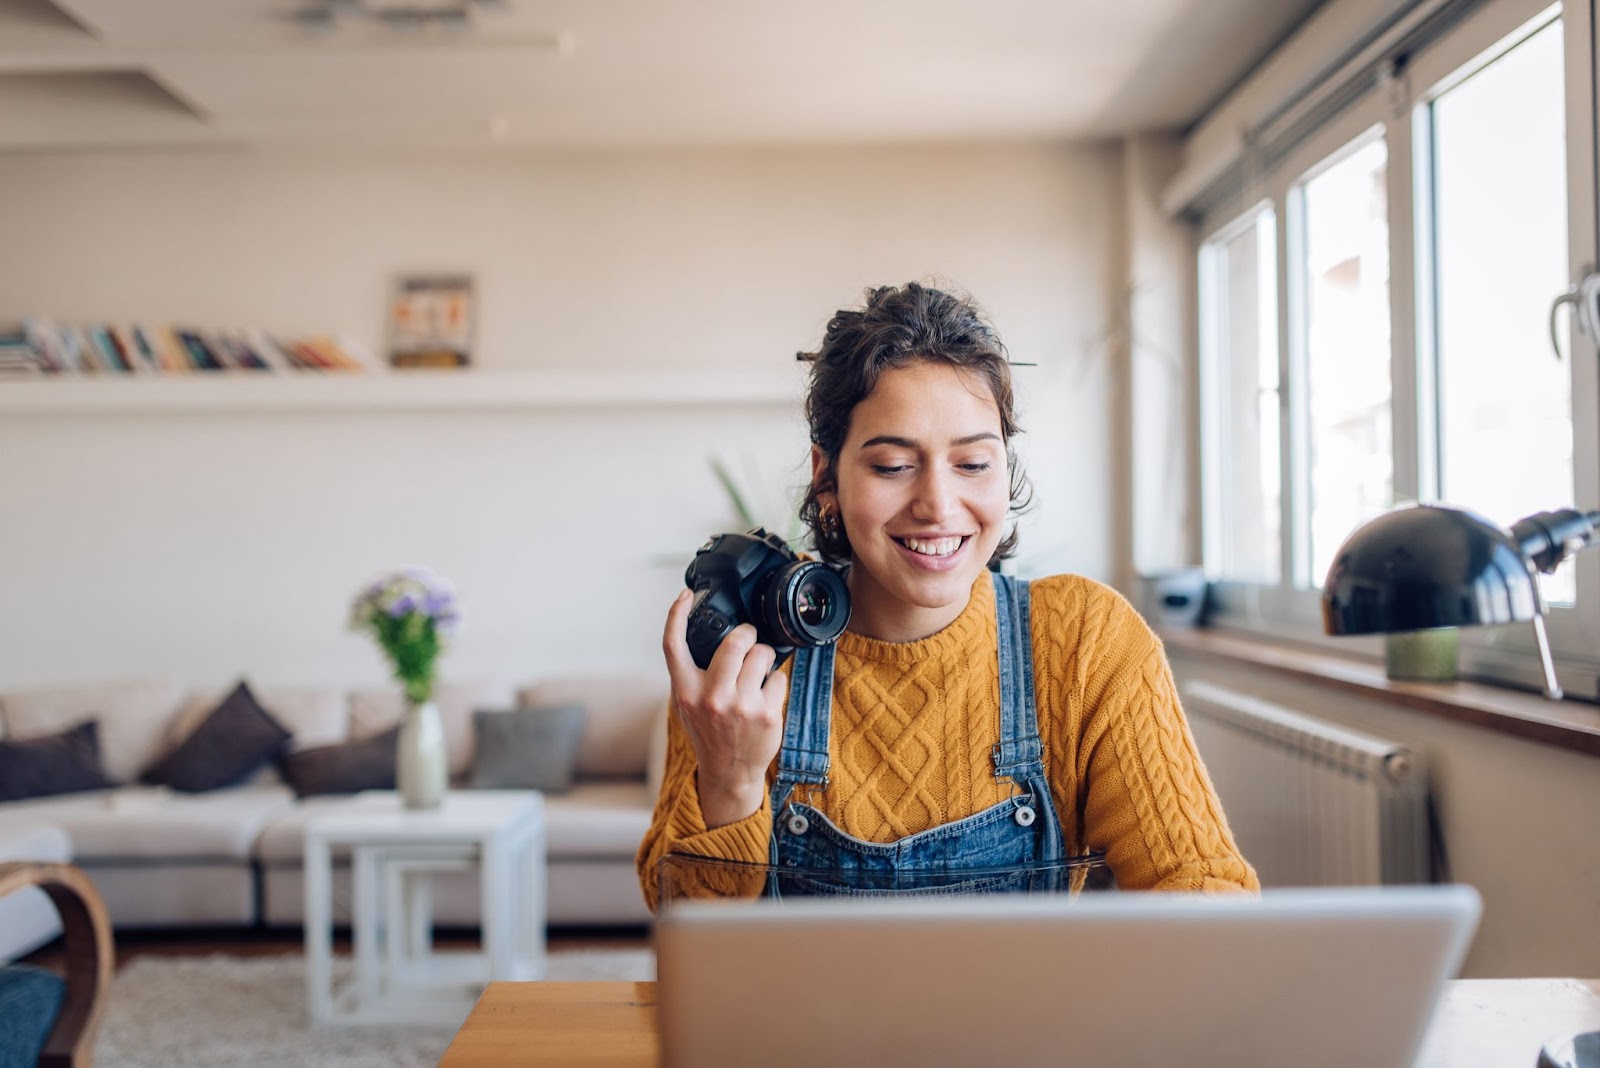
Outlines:
{"label": "plain off-white back wall behind the woman and sofa", "polygon": [[[792,361],[861,288],[973,291],[1018,360],[1038,488],[1021,571],[1109,577],[1112,150],[0,158],[0,321],[328,331],[381,349],[398,273],[467,270],[485,371]],[[5,389],[0,382],[0,389]],[[450,576],[446,676],[656,670],[733,516],[706,457],[802,475],[794,408],[10,416],[0,687],[240,673],[366,683],[346,598]]]}

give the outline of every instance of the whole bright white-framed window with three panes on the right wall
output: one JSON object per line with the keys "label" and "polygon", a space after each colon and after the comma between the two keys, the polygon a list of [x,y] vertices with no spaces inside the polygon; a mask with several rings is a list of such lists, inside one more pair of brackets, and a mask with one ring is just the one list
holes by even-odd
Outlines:
{"label": "whole bright white-framed window with three panes on the right wall", "polygon": [[[1595,341],[1560,320],[1550,350],[1552,301],[1597,262],[1594,6],[1446,0],[1253,131],[1232,189],[1206,193],[1203,545],[1224,620],[1320,638],[1339,544],[1395,502],[1507,526],[1600,507]],[[1600,553],[1544,595],[1563,684],[1597,692]],[[1536,679],[1531,635],[1466,632],[1462,668]]]}

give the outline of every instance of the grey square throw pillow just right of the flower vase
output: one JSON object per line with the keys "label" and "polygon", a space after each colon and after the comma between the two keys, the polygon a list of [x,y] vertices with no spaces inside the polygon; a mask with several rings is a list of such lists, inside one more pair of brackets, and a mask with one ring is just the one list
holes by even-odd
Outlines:
{"label": "grey square throw pillow just right of the flower vase", "polygon": [[584,737],[582,705],[549,705],[510,711],[474,711],[477,740],[472,779],[480,790],[544,790],[573,787],[578,743]]}

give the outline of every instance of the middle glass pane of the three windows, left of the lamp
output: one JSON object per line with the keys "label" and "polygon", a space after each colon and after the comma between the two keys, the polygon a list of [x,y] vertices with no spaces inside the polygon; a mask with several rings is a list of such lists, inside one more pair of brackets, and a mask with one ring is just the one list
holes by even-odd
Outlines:
{"label": "middle glass pane of the three windows, left of the lamp", "polygon": [[1346,536],[1394,500],[1387,150],[1371,141],[1301,185],[1310,560],[1318,587]]}

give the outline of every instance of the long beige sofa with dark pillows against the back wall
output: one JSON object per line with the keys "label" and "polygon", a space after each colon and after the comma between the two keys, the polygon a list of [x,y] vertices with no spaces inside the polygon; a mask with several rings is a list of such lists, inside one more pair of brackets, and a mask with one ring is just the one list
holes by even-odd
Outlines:
{"label": "long beige sofa with dark pillows against the back wall", "polygon": [[[253,691],[291,732],[290,748],[381,734],[403,708],[400,694],[387,689]],[[120,783],[0,803],[0,857],[70,857],[94,879],[117,927],[299,924],[306,820],[347,804],[346,796],[296,798],[272,771],[206,793],[139,785],[141,774],[178,745],[219,697],[186,692],[176,681],[0,692],[0,739],[42,737],[98,719],[102,767]],[[472,769],[475,708],[584,707],[574,785],[546,798],[547,921],[648,923],[634,854],[661,782],[664,676],[552,678],[520,689],[446,684],[437,703],[458,782]],[[336,873],[336,913],[349,900],[344,878]],[[477,923],[470,876],[440,886],[435,900],[440,923]],[[45,923],[29,910],[0,913],[0,956],[48,938],[40,926]]]}

